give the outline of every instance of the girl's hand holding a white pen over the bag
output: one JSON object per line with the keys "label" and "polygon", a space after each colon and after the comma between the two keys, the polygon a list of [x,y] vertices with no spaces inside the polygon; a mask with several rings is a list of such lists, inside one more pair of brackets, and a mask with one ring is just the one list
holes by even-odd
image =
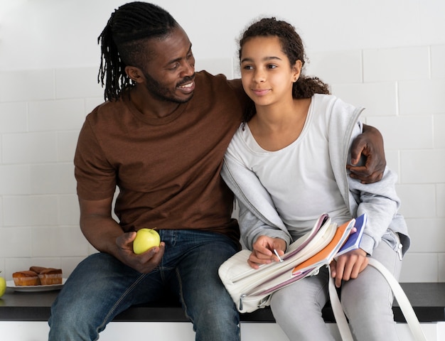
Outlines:
{"label": "girl's hand holding a white pen over the bag", "polygon": [[274,254],[274,249],[277,250],[279,256],[282,256],[286,250],[286,242],[280,238],[259,236],[253,244],[253,251],[247,263],[249,263],[253,269],[258,269],[261,264],[270,264],[272,261],[279,261],[278,257]]}

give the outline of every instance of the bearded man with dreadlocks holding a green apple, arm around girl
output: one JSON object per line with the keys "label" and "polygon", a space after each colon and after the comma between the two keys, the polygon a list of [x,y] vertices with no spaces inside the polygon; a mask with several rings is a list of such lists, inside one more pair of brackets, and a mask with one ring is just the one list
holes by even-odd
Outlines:
{"label": "bearded man with dreadlocks holding a green apple, arm around girl", "polygon": [[[119,7],[99,41],[108,102],[82,126],[75,176],[80,228],[100,253],[65,283],[49,340],[97,340],[122,310],[162,296],[182,303],[196,340],[239,340],[218,268],[240,247],[220,168],[247,101],[241,83],[195,73],[188,36],[152,4]],[[371,167],[383,152],[380,134],[368,129],[355,152],[368,155],[368,168],[353,170],[372,181],[385,161]],[[119,223],[111,215],[116,186]],[[132,242],[143,227],[156,227],[162,242],[136,255]]]}

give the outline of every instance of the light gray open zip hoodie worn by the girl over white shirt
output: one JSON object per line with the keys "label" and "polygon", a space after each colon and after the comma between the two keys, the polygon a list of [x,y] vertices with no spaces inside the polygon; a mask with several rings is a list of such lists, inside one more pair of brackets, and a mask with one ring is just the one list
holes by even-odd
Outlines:
{"label": "light gray open zip hoodie worn by the girl over white shirt", "polygon": [[[363,213],[368,216],[360,248],[372,255],[382,238],[393,239],[391,236],[395,232],[399,234],[403,253],[406,252],[410,239],[407,224],[402,215],[397,213],[400,207],[400,199],[395,192],[397,175],[387,168],[382,180],[364,185],[350,178],[345,168],[350,163],[350,143],[362,131],[358,117],[363,108],[355,108],[332,95],[316,94],[312,100],[328,101],[328,109],[332,111],[328,148],[343,200],[353,217]],[[248,249],[252,249],[252,244],[260,235],[284,239],[287,245],[293,242],[272,198],[250,169],[226,153],[221,175],[237,198],[242,242]]]}

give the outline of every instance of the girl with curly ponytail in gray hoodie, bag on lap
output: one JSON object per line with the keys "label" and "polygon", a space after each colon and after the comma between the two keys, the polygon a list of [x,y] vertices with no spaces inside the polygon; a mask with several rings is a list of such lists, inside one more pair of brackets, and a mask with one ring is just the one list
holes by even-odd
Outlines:
{"label": "girl with curly ponytail in gray hoodie, bag on lap", "polygon": [[[333,261],[331,273],[355,338],[398,340],[390,287],[368,266],[374,257],[398,278],[409,247],[396,175],[387,169],[369,185],[348,176],[343,165],[362,129],[361,109],[302,75],[304,57],[294,27],[275,18],[252,24],[240,40],[242,85],[254,105],[227,149],[222,175],[240,205],[249,264],[277,261],[272,250],[284,254],[323,212],[338,224],[366,213],[360,248]],[[321,317],[327,284],[323,269],[272,296],[274,317],[290,340],[333,340]]]}

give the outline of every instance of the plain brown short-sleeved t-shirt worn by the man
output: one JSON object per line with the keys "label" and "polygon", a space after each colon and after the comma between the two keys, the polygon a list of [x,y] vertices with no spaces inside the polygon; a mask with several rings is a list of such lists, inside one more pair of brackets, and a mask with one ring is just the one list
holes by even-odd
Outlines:
{"label": "plain brown short-sleeved t-shirt worn by the man", "polygon": [[77,195],[101,200],[118,186],[114,210],[124,231],[203,229],[239,239],[220,168],[245,94],[223,75],[196,72],[195,84],[193,98],[168,117],[144,117],[122,99],[95,108],[82,126]]}

